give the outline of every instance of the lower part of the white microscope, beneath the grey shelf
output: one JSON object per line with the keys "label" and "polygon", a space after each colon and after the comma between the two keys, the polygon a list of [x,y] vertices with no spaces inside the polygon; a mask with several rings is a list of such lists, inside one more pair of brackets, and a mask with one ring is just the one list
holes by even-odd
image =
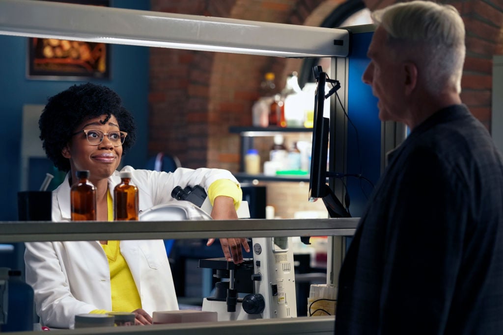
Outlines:
{"label": "lower part of the white microscope, beneath the grey shelf", "polygon": [[[223,258],[199,260],[213,269],[215,295],[204,298],[204,311],[218,321],[297,316],[293,251],[290,238],[254,238],[253,258],[240,264]],[[243,296],[244,295],[244,296]]]}

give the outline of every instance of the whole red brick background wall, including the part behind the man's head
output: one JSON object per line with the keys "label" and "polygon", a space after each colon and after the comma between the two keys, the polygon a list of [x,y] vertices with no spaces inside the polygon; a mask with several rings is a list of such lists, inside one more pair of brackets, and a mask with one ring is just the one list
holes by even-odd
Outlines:
{"label": "whole red brick background wall, including the part behind the man's head", "polygon": [[[151,0],[151,10],[275,23],[319,26],[342,0]],[[364,0],[370,10],[395,0]],[[503,0],[441,1],[462,14],[467,57],[461,97],[488,129],[492,55],[503,53]],[[167,32],[169,33],[169,32]],[[178,156],[185,167],[239,168],[239,138],[229,126],[251,125],[251,106],[264,74],[276,73],[280,90],[302,60],[150,49],[149,154]],[[284,187],[287,187],[286,185]],[[295,188],[296,186],[288,186]],[[304,192],[299,196],[304,197]],[[269,194],[273,199],[275,194]],[[285,217],[291,212],[278,209]]]}

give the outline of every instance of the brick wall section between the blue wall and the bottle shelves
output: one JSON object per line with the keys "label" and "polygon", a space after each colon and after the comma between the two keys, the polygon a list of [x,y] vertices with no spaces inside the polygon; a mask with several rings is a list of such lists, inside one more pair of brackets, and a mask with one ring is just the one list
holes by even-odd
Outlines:
{"label": "brick wall section between the blue wall and the bottle shelves", "polygon": [[[301,24],[321,0],[151,0],[158,12]],[[330,5],[334,4],[334,5]],[[329,13],[328,11],[326,13]],[[310,25],[319,25],[324,18]],[[312,21],[312,20],[311,20]],[[268,71],[280,90],[301,60],[176,49],[150,49],[149,154],[178,156],[183,166],[238,170],[238,137],[229,126],[251,125],[251,106]]]}

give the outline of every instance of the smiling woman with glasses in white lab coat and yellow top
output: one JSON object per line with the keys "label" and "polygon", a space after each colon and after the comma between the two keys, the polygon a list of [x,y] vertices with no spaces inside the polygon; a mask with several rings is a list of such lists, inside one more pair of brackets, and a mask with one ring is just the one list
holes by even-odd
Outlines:
{"label": "smiling woman with glasses in white lab coat and yellow top", "polygon": [[[103,85],[73,85],[49,98],[39,127],[47,157],[68,172],[53,191],[52,220],[70,220],[70,187],[79,170],[89,170],[96,187],[97,219],[113,220],[113,189],[120,183],[116,169],[136,138],[133,117],[119,95]],[[124,170],[138,187],[140,211],[176,201],[171,196],[176,186],[201,185],[213,204],[213,218],[237,218],[242,194],[226,170]],[[249,251],[244,239],[220,242],[234,263],[242,262],[241,247]],[[25,263],[44,325],[72,328],[77,314],[110,311],[133,311],[137,324],[150,324],[153,311],[178,309],[162,240],[26,243]]]}

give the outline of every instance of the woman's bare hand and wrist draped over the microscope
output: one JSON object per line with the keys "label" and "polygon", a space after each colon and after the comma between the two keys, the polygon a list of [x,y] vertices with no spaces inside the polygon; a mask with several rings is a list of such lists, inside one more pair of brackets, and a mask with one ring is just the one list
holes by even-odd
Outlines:
{"label": "woman's bare hand and wrist draped over the microscope", "polygon": [[[237,219],[236,209],[234,208],[234,199],[228,196],[217,196],[213,201],[213,209],[211,211],[211,217],[216,220],[228,220]],[[207,246],[211,246],[215,239],[209,239]],[[220,245],[222,246],[222,251],[225,259],[229,262],[234,262],[234,264],[239,264],[243,262],[243,252],[241,248],[244,248],[246,252],[250,251],[248,242],[244,238],[232,238],[232,239],[220,239]]]}

